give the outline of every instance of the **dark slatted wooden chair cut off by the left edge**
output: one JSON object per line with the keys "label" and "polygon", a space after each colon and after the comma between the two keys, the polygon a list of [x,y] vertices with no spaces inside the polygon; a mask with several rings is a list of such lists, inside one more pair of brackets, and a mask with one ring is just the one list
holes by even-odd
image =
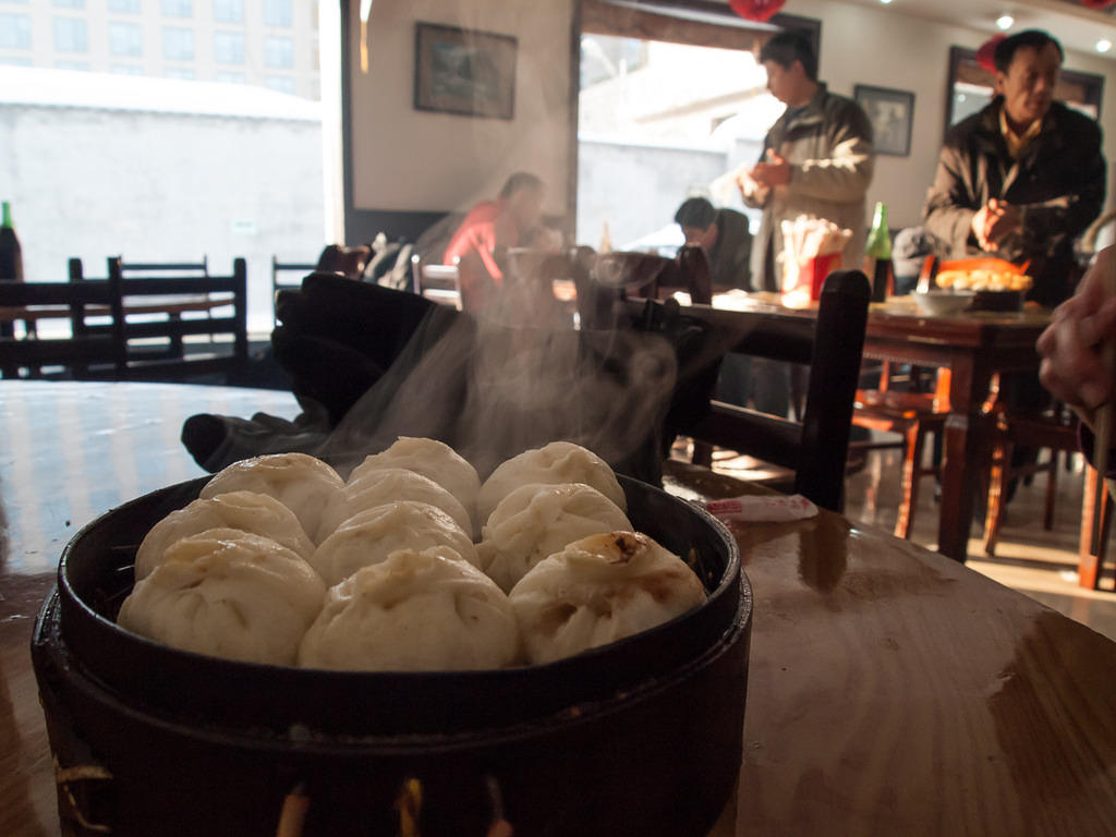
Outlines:
{"label": "dark slatted wooden chair cut off by the left edge", "polygon": [[[35,323],[26,336],[0,337],[3,377],[103,377],[123,358],[116,296],[106,281],[0,282],[0,317]],[[89,320],[99,324],[94,331]]]}

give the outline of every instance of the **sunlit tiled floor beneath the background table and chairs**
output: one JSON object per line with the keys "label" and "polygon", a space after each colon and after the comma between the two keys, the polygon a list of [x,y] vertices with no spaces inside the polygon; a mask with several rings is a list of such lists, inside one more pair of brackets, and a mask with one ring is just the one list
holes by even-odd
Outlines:
{"label": "sunlit tiled floor beneath the background table and chairs", "polygon": [[[719,460],[716,468],[741,475],[734,460]],[[895,450],[869,454],[864,470],[846,482],[845,514],[862,526],[892,531],[898,512],[899,453]],[[1113,565],[1116,543],[1110,542],[1106,571],[1099,591],[1077,586],[1077,545],[1081,526],[1080,471],[1059,473],[1055,526],[1042,528],[1046,484],[1038,477],[1031,485],[1020,485],[1008,506],[995,557],[984,556],[982,521],[973,526],[968,566],[1000,584],[1017,589],[1094,631],[1116,641],[1116,591]],[[934,549],[937,540],[937,503],[933,481],[923,481],[914,517],[912,540]]]}

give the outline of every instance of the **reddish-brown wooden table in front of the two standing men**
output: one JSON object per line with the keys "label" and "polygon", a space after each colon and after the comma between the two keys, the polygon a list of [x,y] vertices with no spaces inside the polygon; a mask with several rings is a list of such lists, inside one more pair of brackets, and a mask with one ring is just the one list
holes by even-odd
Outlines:
{"label": "reddish-brown wooden table in front of the two standing men", "polygon": [[[750,318],[778,317],[790,325],[811,327],[811,309],[786,308],[767,294],[719,295],[713,307],[725,311],[727,321],[747,328]],[[962,312],[926,317],[910,305],[874,304],[868,311],[865,357],[897,363],[937,366],[952,372],[951,414],[945,425],[942,463],[942,499],[937,525],[937,549],[959,561],[965,559],[980,480],[987,468],[991,426],[981,415],[992,375],[999,372],[1037,371],[1035,341],[1050,321],[1049,314]]]}

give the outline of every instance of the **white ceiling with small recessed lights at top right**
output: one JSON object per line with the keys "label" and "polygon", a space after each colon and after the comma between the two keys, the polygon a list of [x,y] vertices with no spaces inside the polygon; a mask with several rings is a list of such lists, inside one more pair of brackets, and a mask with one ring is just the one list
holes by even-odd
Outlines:
{"label": "white ceiling with small recessed lights at top right", "polygon": [[[879,0],[846,0],[860,6],[885,8],[896,15],[937,20],[964,26],[989,36],[999,31],[995,19],[1003,12],[1016,18],[1013,31],[1045,29],[1061,41],[1066,49],[1096,56],[1095,45],[1100,38],[1116,44],[1116,6],[1106,11],[1090,9],[1076,0],[892,0],[882,7]],[[788,4],[789,6],[789,4]],[[792,11],[792,9],[787,9]],[[1116,47],[1106,58],[1116,60]]]}

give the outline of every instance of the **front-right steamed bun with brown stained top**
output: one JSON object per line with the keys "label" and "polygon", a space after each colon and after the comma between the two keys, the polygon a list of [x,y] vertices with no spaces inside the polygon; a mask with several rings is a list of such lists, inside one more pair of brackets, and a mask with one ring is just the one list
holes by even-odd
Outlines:
{"label": "front-right steamed bun with brown stained top", "polygon": [[528,661],[550,663],[647,631],[705,600],[685,561],[638,532],[591,535],[509,595]]}

